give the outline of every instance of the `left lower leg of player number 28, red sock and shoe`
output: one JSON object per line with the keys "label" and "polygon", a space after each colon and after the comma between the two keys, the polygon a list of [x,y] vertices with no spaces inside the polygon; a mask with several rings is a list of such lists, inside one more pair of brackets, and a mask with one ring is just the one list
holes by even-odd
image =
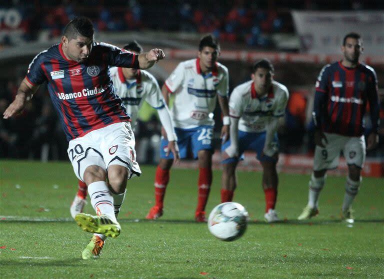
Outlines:
{"label": "left lower leg of player number 28, red sock and shoe", "polygon": [[169,182],[169,170],[172,167],[172,159],[161,158],[156,168],[154,179],[155,204],[146,215],[146,219],[155,220],[162,216],[166,186]]}

